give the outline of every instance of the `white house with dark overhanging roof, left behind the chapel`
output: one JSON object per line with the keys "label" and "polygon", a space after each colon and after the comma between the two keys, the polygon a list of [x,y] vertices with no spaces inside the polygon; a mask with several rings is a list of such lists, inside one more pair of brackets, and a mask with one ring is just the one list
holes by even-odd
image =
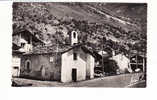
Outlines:
{"label": "white house with dark overhanging roof, left behind the chapel", "polygon": [[23,53],[31,52],[33,46],[43,42],[28,30],[14,31],[12,42],[12,77],[19,77]]}

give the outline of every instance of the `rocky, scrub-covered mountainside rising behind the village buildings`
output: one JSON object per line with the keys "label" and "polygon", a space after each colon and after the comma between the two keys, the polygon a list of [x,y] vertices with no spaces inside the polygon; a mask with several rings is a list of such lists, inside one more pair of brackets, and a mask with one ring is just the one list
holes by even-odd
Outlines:
{"label": "rocky, scrub-covered mountainside rising behind the village buildings", "polygon": [[146,52],[146,4],[14,3],[13,30],[26,28],[47,45],[69,44],[69,32],[79,42],[100,50]]}

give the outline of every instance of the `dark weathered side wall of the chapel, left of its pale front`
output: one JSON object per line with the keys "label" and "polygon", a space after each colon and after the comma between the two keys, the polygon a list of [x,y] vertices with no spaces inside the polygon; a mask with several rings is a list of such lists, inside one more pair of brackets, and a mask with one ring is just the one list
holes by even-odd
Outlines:
{"label": "dark weathered side wall of the chapel, left of its pale front", "polygon": [[[24,55],[21,59],[21,76],[42,80],[60,81],[60,54]],[[30,71],[27,62],[30,62]]]}

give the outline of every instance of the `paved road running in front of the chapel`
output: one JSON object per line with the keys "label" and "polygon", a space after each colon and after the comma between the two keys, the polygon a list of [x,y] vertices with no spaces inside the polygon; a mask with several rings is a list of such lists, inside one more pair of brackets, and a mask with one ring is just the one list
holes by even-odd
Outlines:
{"label": "paved road running in front of the chapel", "polygon": [[132,81],[132,76],[136,74],[124,74],[117,76],[108,76],[102,78],[96,78],[91,80],[85,80],[80,82],[61,83],[56,81],[39,81],[23,78],[14,78],[16,83],[32,84],[33,87],[126,87]]}

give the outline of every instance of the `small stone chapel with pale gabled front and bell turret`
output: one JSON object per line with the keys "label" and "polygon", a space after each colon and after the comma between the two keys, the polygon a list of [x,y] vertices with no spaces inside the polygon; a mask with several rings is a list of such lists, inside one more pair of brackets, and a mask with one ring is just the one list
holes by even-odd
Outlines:
{"label": "small stone chapel with pale gabled front and bell turret", "polygon": [[61,82],[94,78],[94,57],[91,50],[78,43],[78,34],[71,32],[71,45],[41,47],[21,58],[22,77]]}

